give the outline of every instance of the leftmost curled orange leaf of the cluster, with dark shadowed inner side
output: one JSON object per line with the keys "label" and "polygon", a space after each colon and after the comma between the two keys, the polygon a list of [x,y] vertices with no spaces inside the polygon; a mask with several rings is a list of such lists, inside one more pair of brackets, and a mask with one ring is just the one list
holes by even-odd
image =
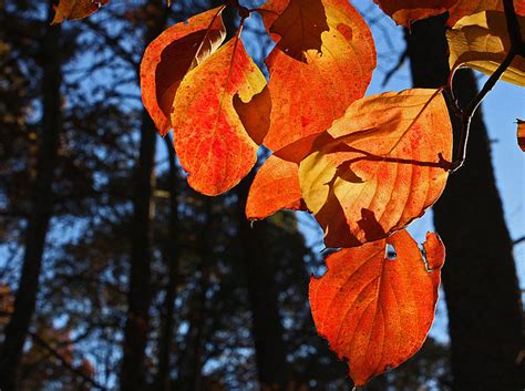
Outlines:
{"label": "leftmost curled orange leaf of the cluster, with dark shadowed inner side", "polygon": [[215,8],[171,27],[144,53],[142,100],[163,136],[169,131],[169,113],[184,75],[214,53],[226,37],[223,9]]}

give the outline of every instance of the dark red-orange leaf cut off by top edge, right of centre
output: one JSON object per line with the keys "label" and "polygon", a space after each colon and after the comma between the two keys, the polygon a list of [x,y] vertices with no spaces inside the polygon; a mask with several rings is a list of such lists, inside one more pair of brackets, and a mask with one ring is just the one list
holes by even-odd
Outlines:
{"label": "dark red-orange leaf cut off by top edge, right of centre", "polygon": [[446,12],[459,0],[373,0],[395,23],[411,22]]}

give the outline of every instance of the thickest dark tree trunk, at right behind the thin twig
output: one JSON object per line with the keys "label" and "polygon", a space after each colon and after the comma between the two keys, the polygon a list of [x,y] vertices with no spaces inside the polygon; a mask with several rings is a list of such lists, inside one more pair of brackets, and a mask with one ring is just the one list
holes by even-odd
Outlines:
{"label": "thickest dark tree trunk, at right behind the thin twig", "polygon": [[[444,85],[449,65],[443,18],[415,23],[406,42],[414,86]],[[454,91],[465,106],[477,93],[476,81],[472,71],[462,71],[456,80]],[[523,391],[525,370],[516,363],[522,342],[519,289],[480,110],[467,153],[464,167],[451,175],[434,206],[434,224],[447,253],[443,286],[453,389]]]}

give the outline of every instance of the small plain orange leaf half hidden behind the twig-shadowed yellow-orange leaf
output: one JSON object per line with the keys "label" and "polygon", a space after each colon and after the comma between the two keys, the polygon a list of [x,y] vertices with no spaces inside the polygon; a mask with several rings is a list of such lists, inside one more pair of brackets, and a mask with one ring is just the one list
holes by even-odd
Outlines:
{"label": "small plain orange leaf half hidden behind the twig-shadowed yellow-orange leaf", "polygon": [[302,209],[299,167],[296,163],[271,155],[251,183],[246,217],[262,219],[280,209]]}

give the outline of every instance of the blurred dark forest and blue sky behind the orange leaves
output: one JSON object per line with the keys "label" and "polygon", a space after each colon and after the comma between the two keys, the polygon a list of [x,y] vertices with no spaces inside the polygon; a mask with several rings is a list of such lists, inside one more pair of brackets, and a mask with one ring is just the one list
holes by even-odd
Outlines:
{"label": "blurred dark forest and blue sky behind the orange leaves", "polygon": [[[216,3],[176,1],[168,10],[162,1],[113,0],[60,27],[50,25],[51,6],[0,1],[0,383],[9,377],[7,390],[350,389],[346,366],[317,336],[307,302],[306,277],[323,271],[321,233],[306,214],[280,213],[250,227],[243,206],[247,182],[218,198],[191,191],[169,137],[159,138],[144,112],[137,72],[144,48],[166,25]],[[356,6],[379,52],[368,94],[384,91],[383,82],[389,90],[424,83],[416,69],[439,65],[432,56],[439,42],[426,41],[418,60],[418,34],[435,29],[439,18],[409,34],[371,1]],[[264,68],[260,59],[271,47],[254,19],[243,38]],[[514,121],[524,101],[523,90],[498,83],[483,105],[488,137],[473,130],[477,142],[469,158],[491,163],[492,148],[496,182],[490,164],[467,163],[447,192],[463,189],[445,195],[437,216],[411,227],[421,241],[441,218],[436,225],[472,243],[457,249],[445,237],[451,271],[444,271],[446,297],[431,338],[411,362],[367,390],[488,390],[491,377],[511,371],[505,343],[523,349],[525,158]],[[446,215],[447,199],[472,215],[451,207]],[[465,234],[478,230],[491,239]],[[25,268],[24,280],[22,265],[38,258],[41,265]],[[24,281],[35,310],[31,300],[20,306],[21,319],[31,321],[16,357],[7,353],[17,349],[6,336]],[[447,284],[461,287],[447,290]],[[451,302],[444,299],[464,292],[473,294],[463,306],[454,301],[449,333]],[[519,317],[507,316],[505,306],[518,307]],[[141,338],[132,338],[136,317]],[[516,329],[517,339],[502,341]],[[463,362],[462,354],[470,359]],[[483,388],[460,388],[476,377]],[[523,378],[512,378],[508,390],[523,389]]]}

